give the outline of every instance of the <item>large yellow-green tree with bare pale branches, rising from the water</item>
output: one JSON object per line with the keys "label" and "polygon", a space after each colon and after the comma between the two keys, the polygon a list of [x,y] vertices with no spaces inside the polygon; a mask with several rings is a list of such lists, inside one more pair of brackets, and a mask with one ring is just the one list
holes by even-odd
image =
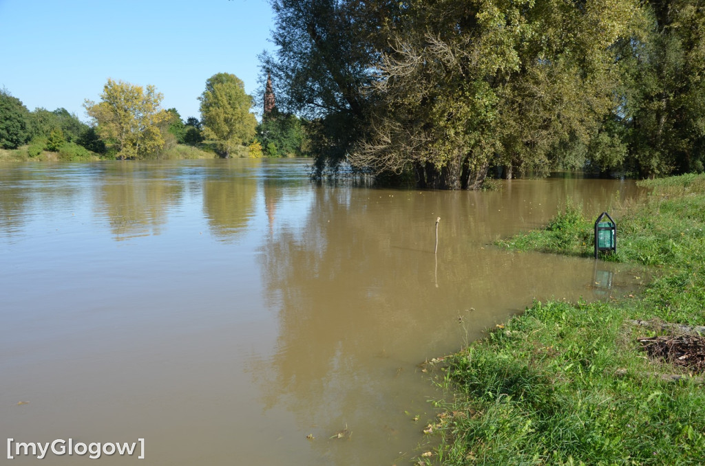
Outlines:
{"label": "large yellow-green tree with bare pale branches, rising from the water", "polygon": [[476,188],[491,164],[548,165],[556,144],[589,140],[616,105],[608,49],[628,32],[633,0],[407,5],[369,90],[379,105],[357,165]]}

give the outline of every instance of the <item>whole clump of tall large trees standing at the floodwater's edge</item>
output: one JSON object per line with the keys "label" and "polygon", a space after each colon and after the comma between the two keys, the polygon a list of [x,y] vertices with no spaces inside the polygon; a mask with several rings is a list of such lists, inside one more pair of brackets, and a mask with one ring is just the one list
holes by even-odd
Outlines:
{"label": "whole clump of tall large trees standing at the floodwater's edge", "polygon": [[281,108],[317,175],[419,187],[705,163],[705,0],[271,0]]}

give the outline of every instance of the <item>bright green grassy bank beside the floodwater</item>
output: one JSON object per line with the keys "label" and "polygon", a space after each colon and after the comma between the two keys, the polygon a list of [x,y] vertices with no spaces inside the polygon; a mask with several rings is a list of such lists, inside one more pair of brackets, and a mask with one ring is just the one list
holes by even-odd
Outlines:
{"label": "bright green grassy bank beside the floodwater", "polygon": [[[444,358],[445,414],[429,429],[443,442],[431,458],[448,465],[705,464],[702,367],[693,353],[675,353],[675,335],[657,338],[673,329],[632,322],[705,325],[705,177],[643,185],[651,191],[646,201],[611,212],[618,253],[605,258],[653,267],[642,298],[536,302]],[[568,203],[546,229],[501,246],[590,257],[593,221]],[[683,338],[701,344],[697,334]],[[673,351],[645,351],[654,341],[671,342]]]}

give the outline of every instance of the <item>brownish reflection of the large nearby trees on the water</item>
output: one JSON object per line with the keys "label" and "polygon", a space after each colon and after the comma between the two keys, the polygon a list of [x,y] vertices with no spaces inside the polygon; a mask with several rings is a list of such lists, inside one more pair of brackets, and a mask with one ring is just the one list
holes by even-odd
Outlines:
{"label": "brownish reflection of the large nearby trees on the water", "polygon": [[[304,222],[275,230],[259,256],[279,331],[276,353],[247,367],[266,409],[286,406],[301,426],[315,426],[314,436],[347,425],[391,461],[402,447],[384,432],[422,441],[403,415],[429,390],[417,363],[458,348],[534,298],[603,298],[591,285],[591,260],[491,245],[543,225],[556,198],[589,209],[615,196],[603,182],[543,184],[515,181],[489,193],[314,189]],[[405,396],[380,399],[400,384]],[[315,448],[321,458],[331,451],[329,443]],[[379,462],[361,454],[336,464]]]}

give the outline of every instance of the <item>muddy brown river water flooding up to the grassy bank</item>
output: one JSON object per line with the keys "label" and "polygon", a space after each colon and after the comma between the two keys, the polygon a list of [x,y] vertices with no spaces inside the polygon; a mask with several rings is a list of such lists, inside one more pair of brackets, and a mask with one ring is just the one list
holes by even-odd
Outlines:
{"label": "muddy brown river water flooding up to the grassy bank", "polygon": [[301,160],[1,164],[1,443],[144,439],[147,465],[407,464],[439,396],[419,363],[533,299],[638,284],[492,241],[568,198],[597,215],[636,195],[571,177],[320,186]]}

